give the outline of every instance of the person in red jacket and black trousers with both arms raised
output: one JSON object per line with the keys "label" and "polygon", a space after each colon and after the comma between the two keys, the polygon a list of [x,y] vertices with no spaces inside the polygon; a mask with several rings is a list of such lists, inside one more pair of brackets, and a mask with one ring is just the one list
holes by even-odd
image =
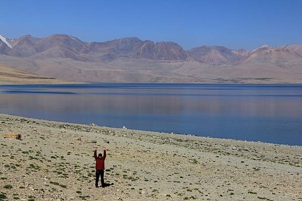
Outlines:
{"label": "person in red jacket and black trousers with both arms raised", "polygon": [[94,157],[96,159],[96,187],[98,188],[100,176],[101,176],[102,187],[105,187],[104,169],[105,169],[106,148],[105,148],[105,146],[103,147],[104,155],[99,153],[98,156],[97,156],[97,148],[98,147],[95,147]]}

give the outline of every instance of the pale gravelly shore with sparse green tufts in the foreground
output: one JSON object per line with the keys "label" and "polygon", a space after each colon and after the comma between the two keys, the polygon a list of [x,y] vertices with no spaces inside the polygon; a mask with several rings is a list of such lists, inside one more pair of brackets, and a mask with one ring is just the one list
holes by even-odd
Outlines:
{"label": "pale gravelly shore with sparse green tufts in the foreground", "polygon": [[[94,146],[107,148],[105,188]],[[0,114],[0,147],[0,200],[302,200],[299,146]]]}

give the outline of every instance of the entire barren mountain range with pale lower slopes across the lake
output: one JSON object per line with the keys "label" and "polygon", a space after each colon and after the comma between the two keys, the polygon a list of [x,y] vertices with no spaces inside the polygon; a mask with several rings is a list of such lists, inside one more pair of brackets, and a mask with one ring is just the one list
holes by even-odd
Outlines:
{"label": "entire barren mountain range with pale lower slopes across the lake", "polygon": [[184,50],[136,37],[88,43],[63,34],[0,35],[0,64],[78,82],[302,83],[302,45]]}

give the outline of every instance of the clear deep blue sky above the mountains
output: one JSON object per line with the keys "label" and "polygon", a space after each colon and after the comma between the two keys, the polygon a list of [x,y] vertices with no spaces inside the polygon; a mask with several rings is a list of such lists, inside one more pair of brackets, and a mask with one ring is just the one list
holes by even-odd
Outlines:
{"label": "clear deep blue sky above the mountains", "polygon": [[0,1],[0,34],[7,38],[61,33],[102,42],[136,36],[184,49],[302,44],[300,0]]}

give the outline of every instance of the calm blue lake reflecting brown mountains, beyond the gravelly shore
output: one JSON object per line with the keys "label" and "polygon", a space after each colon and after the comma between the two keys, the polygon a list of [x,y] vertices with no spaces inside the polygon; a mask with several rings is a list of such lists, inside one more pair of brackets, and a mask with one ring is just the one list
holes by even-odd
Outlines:
{"label": "calm blue lake reflecting brown mountains, beyond the gravelly shore", "polygon": [[0,85],[0,113],[302,145],[302,85]]}

